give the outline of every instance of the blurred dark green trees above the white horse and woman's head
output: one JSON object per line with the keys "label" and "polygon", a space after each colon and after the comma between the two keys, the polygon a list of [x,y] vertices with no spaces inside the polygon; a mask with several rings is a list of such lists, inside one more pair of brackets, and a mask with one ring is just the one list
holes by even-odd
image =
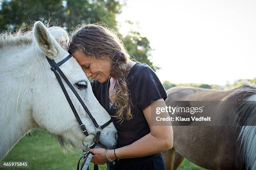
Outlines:
{"label": "blurred dark green trees above the white horse and woman's head", "polygon": [[115,15],[122,5],[116,0],[3,0],[0,29],[16,29],[41,20],[74,28],[80,23],[102,22],[116,28]]}

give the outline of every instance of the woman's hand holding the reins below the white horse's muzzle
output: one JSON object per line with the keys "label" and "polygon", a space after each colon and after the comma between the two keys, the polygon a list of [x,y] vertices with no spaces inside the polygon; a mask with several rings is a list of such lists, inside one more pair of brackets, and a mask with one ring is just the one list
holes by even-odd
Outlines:
{"label": "woman's hand holding the reins below the white horse's muzzle", "polygon": [[105,155],[105,149],[103,148],[97,148],[97,149],[89,149],[89,151],[93,154],[91,162],[98,165],[104,165],[108,162],[106,155]]}

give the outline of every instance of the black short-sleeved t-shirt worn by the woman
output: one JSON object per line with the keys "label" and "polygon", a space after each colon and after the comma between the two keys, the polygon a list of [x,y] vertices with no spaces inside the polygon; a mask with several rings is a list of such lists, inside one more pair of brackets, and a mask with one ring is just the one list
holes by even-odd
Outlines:
{"label": "black short-sleeved t-shirt worn by the woman", "polygon": [[[92,91],[100,104],[108,111],[110,116],[115,116],[115,104],[109,108],[108,85],[110,77],[104,83],[93,80]],[[129,145],[150,132],[148,122],[143,115],[143,109],[151,105],[151,101],[167,97],[166,91],[156,73],[146,64],[137,62],[131,68],[128,77],[128,90],[131,97],[131,120],[119,121],[112,117],[118,132],[117,148]]]}

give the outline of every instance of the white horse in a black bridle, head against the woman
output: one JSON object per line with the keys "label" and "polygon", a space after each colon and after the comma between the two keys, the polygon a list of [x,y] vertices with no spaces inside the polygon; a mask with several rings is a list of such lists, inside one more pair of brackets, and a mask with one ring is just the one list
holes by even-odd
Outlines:
{"label": "white horse in a black bridle, head against the woman", "polygon": [[[68,40],[65,30],[47,29],[41,22],[36,22],[30,32],[0,35],[0,160],[32,128],[47,130],[64,149],[70,145],[83,148],[84,134],[46,60],[46,56],[56,62],[67,57],[69,53],[59,43]],[[60,68],[97,123],[103,125],[110,120],[77,61],[72,57]],[[87,88],[79,89],[78,82],[86,83]],[[65,82],[64,85],[88,132],[96,134],[92,120]],[[89,135],[84,143],[90,145],[92,140],[93,135]],[[102,130],[100,143],[114,148],[116,140],[117,131],[111,123]]]}

